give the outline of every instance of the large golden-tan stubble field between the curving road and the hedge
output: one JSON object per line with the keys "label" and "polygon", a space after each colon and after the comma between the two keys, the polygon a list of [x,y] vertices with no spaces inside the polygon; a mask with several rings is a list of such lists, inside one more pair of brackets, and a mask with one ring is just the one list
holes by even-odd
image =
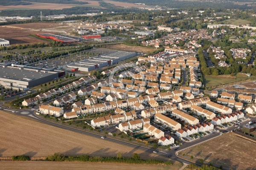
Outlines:
{"label": "large golden-tan stubble field between the curving road and the hedge", "polygon": [[36,158],[53,153],[116,156],[120,152],[124,157],[139,153],[142,159],[169,160],[143,150],[52,127],[3,111],[0,111],[0,120],[0,157],[27,155]]}

